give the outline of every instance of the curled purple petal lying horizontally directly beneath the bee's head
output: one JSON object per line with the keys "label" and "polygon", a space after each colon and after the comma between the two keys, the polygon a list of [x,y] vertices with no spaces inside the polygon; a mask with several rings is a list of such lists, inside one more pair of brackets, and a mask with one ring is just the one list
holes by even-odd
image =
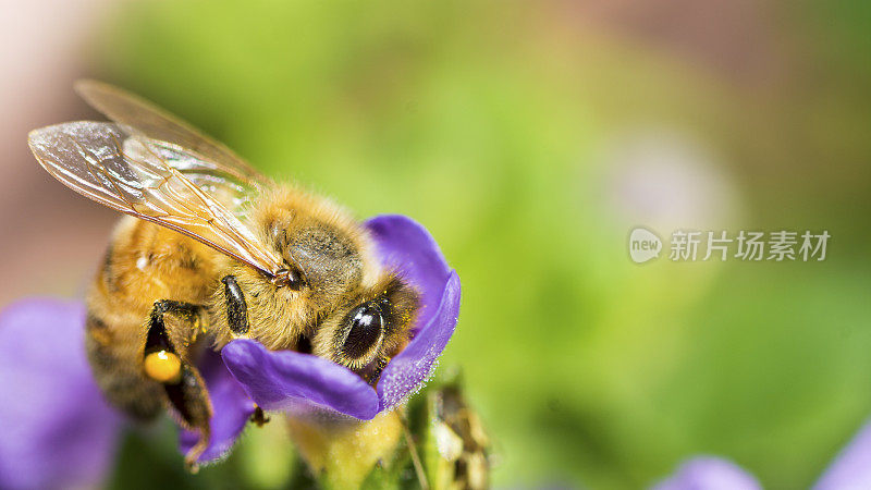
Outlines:
{"label": "curled purple petal lying horizontally directly beneath the bee's head", "polygon": [[230,372],[263,409],[329,408],[365,420],[378,413],[375,390],[331,360],[293,351],[268,351],[252,340],[232,341],[221,355]]}

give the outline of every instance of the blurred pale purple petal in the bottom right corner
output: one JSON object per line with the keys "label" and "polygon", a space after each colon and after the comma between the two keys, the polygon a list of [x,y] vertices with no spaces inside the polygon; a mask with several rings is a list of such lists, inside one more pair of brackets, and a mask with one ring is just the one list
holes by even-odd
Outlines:
{"label": "blurred pale purple petal in the bottom right corner", "polygon": [[813,487],[815,490],[871,488],[871,422],[866,422]]}

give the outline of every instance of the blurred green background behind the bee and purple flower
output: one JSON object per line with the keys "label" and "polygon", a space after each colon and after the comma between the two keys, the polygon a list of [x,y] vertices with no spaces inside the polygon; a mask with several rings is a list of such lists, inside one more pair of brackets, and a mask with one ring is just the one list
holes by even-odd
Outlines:
{"label": "blurred green background behind the bee and purple flower", "polygon": [[[807,487],[871,414],[867,2],[103,3],[76,74],[431,231],[463,281],[442,367],[494,485],[639,488],[706,453]],[[68,107],[45,123],[96,118]],[[832,238],[822,262],[638,266],[638,224]],[[138,438],[120,481],[291,466],[249,434],[198,479],[156,475],[173,434]]]}

